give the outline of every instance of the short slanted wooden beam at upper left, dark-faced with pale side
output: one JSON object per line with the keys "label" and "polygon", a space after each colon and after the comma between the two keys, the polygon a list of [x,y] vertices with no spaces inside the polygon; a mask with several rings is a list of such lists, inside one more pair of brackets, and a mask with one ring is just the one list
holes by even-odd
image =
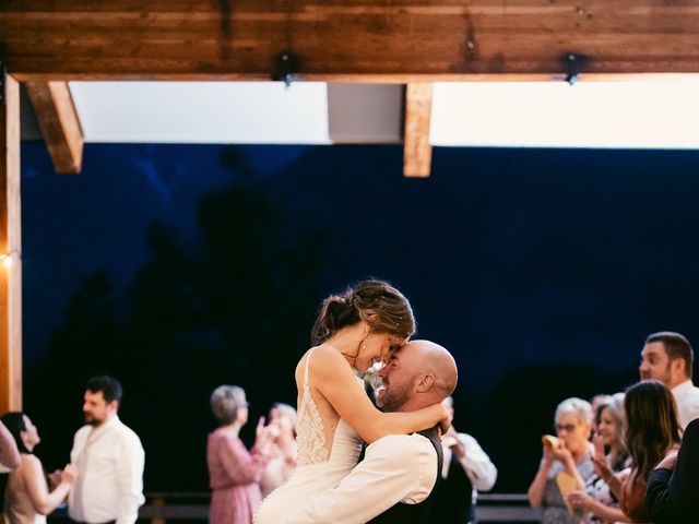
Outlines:
{"label": "short slanted wooden beam at upper left, dark-faced with pale side", "polygon": [[76,175],[82,168],[83,133],[66,82],[27,82],[42,135],[56,172]]}

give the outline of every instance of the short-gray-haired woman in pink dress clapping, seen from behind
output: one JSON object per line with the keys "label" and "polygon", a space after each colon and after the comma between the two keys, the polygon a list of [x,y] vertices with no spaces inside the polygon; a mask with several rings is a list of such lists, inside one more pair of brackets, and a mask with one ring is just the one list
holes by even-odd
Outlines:
{"label": "short-gray-haired woman in pink dress clapping, seen from behind", "polygon": [[238,437],[248,421],[248,402],[242,388],[220,385],[211,395],[211,410],[220,427],[209,434],[206,464],[211,524],[250,524],[262,501],[260,477],[268,462],[272,436],[260,418],[257,438],[248,452]]}

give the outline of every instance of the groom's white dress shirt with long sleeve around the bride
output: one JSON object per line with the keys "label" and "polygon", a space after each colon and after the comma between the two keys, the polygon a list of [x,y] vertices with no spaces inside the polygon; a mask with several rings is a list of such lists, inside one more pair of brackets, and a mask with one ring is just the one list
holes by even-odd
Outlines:
{"label": "groom's white dress shirt with long sleeve around the bride", "polygon": [[[284,524],[363,524],[399,502],[424,501],[437,480],[437,452],[422,434],[389,434],[334,489],[318,493]],[[282,524],[282,523],[280,523]]]}

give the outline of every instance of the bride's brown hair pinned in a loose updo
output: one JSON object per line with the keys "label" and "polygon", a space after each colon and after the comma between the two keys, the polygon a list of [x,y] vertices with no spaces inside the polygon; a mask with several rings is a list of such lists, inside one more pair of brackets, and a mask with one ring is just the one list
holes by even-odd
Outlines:
{"label": "bride's brown hair pinned in a loose updo", "polygon": [[403,294],[383,281],[371,279],[323,300],[311,331],[311,344],[318,346],[362,320],[371,333],[390,333],[402,338],[415,333],[413,310]]}

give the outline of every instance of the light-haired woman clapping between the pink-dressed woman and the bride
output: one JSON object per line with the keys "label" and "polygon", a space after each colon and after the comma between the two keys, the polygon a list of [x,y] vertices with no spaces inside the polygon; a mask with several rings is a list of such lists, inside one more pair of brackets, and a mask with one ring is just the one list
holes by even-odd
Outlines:
{"label": "light-haired woman clapping between the pink-dressed woman and the bride", "polygon": [[288,404],[274,404],[269,426],[274,441],[260,479],[262,498],[280,487],[296,467],[296,409]]}

